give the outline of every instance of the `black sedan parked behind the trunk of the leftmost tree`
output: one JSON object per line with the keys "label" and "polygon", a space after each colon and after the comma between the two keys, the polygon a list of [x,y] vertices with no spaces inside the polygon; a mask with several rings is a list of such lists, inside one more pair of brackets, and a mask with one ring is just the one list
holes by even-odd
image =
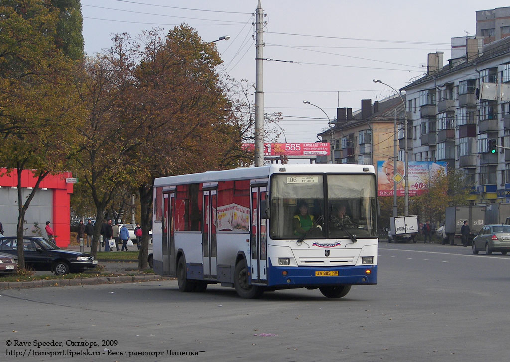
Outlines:
{"label": "black sedan parked behind the trunk of the leftmost tree", "polygon": [[[0,238],[0,253],[18,255],[15,236]],[[55,275],[83,272],[93,268],[97,260],[90,254],[64,250],[46,238],[23,236],[25,265],[39,271],[53,271]]]}

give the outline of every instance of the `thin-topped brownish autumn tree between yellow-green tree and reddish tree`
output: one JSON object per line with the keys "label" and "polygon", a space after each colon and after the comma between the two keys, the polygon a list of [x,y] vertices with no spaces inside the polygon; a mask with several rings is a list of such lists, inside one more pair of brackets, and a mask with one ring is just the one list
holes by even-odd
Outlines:
{"label": "thin-topped brownish autumn tree between yellow-green tree and reddish tree", "polygon": [[81,135],[80,156],[75,172],[90,190],[96,223],[91,253],[95,256],[104,211],[121,187],[135,184],[139,171],[132,161],[138,145],[137,127],[124,116],[134,86],[137,45],[128,35],[115,36],[105,53],[86,58],[75,86],[80,103],[87,109]]}

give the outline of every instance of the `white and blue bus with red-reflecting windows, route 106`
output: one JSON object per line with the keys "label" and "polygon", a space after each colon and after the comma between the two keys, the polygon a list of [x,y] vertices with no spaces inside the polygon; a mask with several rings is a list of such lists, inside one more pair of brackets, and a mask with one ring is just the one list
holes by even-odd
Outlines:
{"label": "white and blue bus with red-reflecting windows, route 106", "polygon": [[183,292],[220,284],[242,298],[290,288],[340,298],[352,285],[377,283],[376,218],[372,165],[271,164],[160,177],[154,270],[177,277]]}

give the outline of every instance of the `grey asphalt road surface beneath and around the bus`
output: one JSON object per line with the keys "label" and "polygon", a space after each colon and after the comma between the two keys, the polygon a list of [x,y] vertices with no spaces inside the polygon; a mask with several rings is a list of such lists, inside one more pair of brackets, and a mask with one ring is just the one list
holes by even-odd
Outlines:
{"label": "grey asphalt road surface beneath and around the bus", "polygon": [[[376,286],[339,300],[304,289],[259,300],[219,286],[181,293],[176,281],[0,291],[0,359],[70,359],[33,350],[99,353],[77,361],[509,359],[510,256],[381,242],[378,264]],[[86,341],[97,346],[75,345]]]}

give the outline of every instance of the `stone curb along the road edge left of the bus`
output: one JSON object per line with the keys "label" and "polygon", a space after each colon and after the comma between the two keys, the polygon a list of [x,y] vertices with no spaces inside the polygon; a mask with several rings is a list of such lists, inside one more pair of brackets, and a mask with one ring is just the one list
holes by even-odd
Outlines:
{"label": "stone curb along the road edge left of the bus", "polygon": [[33,282],[0,283],[0,290],[14,288],[26,289],[41,287],[66,287],[80,285],[83,286],[99,284],[141,283],[141,282],[165,281],[172,279],[173,278],[159,275],[136,275],[136,276],[105,276],[84,279],[38,280]]}

